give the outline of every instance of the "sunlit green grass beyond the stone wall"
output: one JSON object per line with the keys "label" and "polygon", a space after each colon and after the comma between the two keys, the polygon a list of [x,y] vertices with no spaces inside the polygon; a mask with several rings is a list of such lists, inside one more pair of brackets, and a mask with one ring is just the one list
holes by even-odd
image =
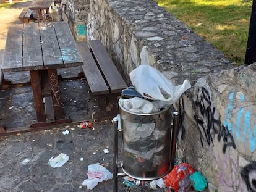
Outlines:
{"label": "sunlit green grass beyond the stone wall", "polygon": [[[251,0],[155,0],[195,33],[220,49],[231,62],[244,64]],[[256,34],[255,34],[256,35]]]}

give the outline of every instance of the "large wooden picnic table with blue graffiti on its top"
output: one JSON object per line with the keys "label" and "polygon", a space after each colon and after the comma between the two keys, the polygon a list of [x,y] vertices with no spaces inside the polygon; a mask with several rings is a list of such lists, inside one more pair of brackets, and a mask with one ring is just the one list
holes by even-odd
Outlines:
{"label": "large wooden picnic table with blue graffiti on its top", "polygon": [[1,72],[30,71],[38,122],[67,122],[57,69],[83,65],[67,22],[10,25]]}

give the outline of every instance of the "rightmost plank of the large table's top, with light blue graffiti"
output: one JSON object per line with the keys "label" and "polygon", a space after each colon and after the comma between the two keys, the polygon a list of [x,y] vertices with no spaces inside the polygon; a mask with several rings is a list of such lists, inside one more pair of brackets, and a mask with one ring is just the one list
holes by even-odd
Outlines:
{"label": "rightmost plank of the large table's top, with light blue graffiti", "polygon": [[61,48],[62,59],[66,67],[76,67],[83,64],[79,54],[74,36],[72,35],[67,22],[53,22],[56,36]]}

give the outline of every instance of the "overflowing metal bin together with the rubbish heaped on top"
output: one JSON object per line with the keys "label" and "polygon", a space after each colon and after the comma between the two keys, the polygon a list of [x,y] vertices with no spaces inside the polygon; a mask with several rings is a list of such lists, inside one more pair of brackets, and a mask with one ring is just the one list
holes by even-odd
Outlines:
{"label": "overflowing metal bin together with the rubbish heaped on top", "polygon": [[174,166],[171,164],[172,145],[176,145],[172,143],[173,103],[191,85],[184,80],[182,85],[175,86],[150,65],[132,70],[130,80],[133,86],[122,90],[118,102],[122,171],[136,180],[158,180]]}

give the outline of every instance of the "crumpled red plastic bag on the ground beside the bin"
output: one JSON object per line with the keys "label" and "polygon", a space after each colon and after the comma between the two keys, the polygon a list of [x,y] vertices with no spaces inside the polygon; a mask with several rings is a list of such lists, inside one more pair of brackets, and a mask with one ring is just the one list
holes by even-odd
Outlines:
{"label": "crumpled red plastic bag on the ground beside the bin", "polygon": [[190,188],[189,176],[194,172],[195,170],[189,164],[177,164],[174,166],[173,170],[163,178],[164,183],[168,189],[170,186],[175,192],[179,190],[182,191],[182,188],[185,191],[186,188]]}

